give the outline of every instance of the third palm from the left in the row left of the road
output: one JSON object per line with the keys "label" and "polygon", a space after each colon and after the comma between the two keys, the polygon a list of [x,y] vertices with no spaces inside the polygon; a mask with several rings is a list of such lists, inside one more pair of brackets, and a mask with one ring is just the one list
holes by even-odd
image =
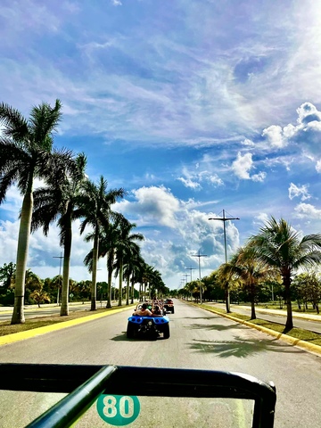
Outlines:
{"label": "third palm from the left in the row left of the road", "polygon": [[92,266],[92,289],[91,289],[91,309],[95,310],[96,300],[96,274],[99,251],[99,236],[103,226],[108,226],[111,218],[111,205],[125,194],[124,189],[114,189],[107,192],[107,181],[100,177],[99,183],[86,180],[83,186],[81,197],[79,198],[79,209],[77,216],[84,218],[80,225],[80,235],[86,226],[93,228],[93,266]]}

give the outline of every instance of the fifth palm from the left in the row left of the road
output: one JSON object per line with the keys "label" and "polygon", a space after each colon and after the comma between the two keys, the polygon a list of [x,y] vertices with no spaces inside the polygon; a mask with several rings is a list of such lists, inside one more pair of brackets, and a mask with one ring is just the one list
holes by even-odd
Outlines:
{"label": "fifth palm from the left in the row left of the road", "polygon": [[[122,282],[123,282],[123,266],[124,255],[130,248],[130,245],[135,241],[144,241],[144,235],[136,233],[131,234],[131,230],[136,227],[135,223],[130,223],[127,218],[123,218],[119,222],[119,235],[115,242],[115,268],[116,276],[119,277],[119,305],[122,306]],[[133,247],[132,247],[133,248]]]}

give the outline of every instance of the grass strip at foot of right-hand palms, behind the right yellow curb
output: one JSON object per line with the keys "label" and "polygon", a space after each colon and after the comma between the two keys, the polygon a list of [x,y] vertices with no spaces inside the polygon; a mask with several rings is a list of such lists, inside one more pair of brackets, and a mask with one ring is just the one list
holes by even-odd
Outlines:
{"label": "grass strip at foot of right-hand palms, behind the right yellow curb", "polygon": [[[208,309],[210,311],[213,311],[213,307],[202,305],[204,309]],[[214,309],[215,312],[226,314],[225,309]],[[265,319],[251,319],[251,317],[243,314],[238,314],[237,312],[231,312],[229,315],[232,317],[238,318],[243,321],[247,321],[248,323],[260,325],[262,327],[268,328],[270,330],[274,330],[277,333],[284,333],[288,336],[291,336],[295,339],[299,339],[300,341],[313,343],[314,345],[321,346],[321,334],[309,332],[309,330],[304,330],[302,328],[293,327],[291,330],[286,330],[285,325],[278,324],[278,323],[272,323],[271,321],[267,321]]]}

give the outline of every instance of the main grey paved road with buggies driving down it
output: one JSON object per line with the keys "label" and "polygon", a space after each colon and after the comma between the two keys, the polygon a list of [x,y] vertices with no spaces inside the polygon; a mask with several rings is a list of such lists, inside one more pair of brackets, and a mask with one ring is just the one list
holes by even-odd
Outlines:
{"label": "main grey paved road with buggies driving down it", "polygon": [[[276,428],[321,426],[321,357],[184,301],[174,302],[175,314],[169,314],[168,340],[128,340],[127,318],[132,312],[128,309],[3,345],[0,362],[179,367],[251,374],[276,383]],[[63,396],[0,391],[0,426],[24,427]],[[249,409],[234,401],[226,404],[221,400],[209,405],[191,399],[142,398],[140,416],[127,426],[251,426]],[[111,425],[103,421],[94,405],[75,426]]]}

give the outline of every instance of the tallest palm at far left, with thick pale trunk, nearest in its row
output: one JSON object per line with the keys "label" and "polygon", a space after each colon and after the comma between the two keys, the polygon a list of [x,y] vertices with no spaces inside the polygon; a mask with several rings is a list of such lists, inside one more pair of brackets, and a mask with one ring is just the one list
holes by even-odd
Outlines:
{"label": "tallest palm at far left, with thick pale trunk, nearest in its row", "polygon": [[14,289],[12,324],[22,324],[24,317],[25,275],[29,251],[29,236],[33,209],[33,183],[51,173],[53,132],[62,117],[62,104],[56,100],[52,108],[47,103],[32,108],[30,118],[20,111],[0,103],[0,203],[13,184],[23,194],[17,248],[17,272]]}

